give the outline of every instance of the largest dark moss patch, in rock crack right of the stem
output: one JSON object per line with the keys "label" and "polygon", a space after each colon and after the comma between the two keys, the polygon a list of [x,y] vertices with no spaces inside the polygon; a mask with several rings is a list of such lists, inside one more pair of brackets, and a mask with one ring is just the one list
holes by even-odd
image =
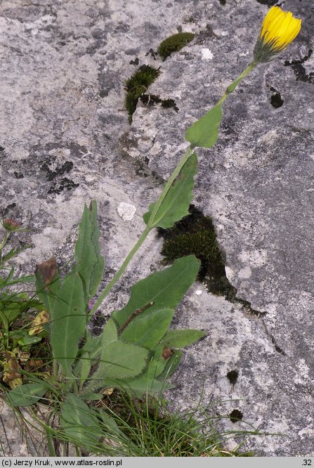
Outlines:
{"label": "largest dark moss patch, in rock crack right of the stem", "polygon": [[159,235],[164,238],[161,254],[164,264],[172,264],[181,256],[195,255],[201,261],[197,279],[206,285],[213,294],[224,296],[233,303],[240,303],[242,310],[254,316],[263,316],[264,312],[255,311],[249,301],[237,298],[237,289],[230,284],[225,275],[225,261],[218,247],[214,224],[209,216],[204,216],[194,205],[190,205],[190,214],[178,221],[173,228],[159,228]]}

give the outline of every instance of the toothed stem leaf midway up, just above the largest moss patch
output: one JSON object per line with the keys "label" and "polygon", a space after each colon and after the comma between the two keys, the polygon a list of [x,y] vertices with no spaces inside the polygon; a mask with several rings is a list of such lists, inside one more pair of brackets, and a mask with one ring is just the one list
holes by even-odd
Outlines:
{"label": "toothed stem leaf midway up, just above the largest moss patch", "polygon": [[171,228],[176,221],[188,215],[188,208],[193,197],[194,176],[197,173],[197,155],[192,156],[181,169],[180,174],[174,181],[169,192],[166,194],[160,205],[155,218],[150,220],[155,203],[151,203],[148,212],[143,219],[146,224],[150,221],[150,226],[155,228]]}

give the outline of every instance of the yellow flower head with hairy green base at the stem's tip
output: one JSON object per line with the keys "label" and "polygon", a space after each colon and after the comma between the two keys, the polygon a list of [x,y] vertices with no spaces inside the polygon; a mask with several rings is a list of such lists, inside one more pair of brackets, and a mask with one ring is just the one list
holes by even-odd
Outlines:
{"label": "yellow flower head with hairy green base at the stem's tip", "polygon": [[268,62],[289,46],[301,30],[301,20],[273,6],[268,11],[254,48],[256,62]]}

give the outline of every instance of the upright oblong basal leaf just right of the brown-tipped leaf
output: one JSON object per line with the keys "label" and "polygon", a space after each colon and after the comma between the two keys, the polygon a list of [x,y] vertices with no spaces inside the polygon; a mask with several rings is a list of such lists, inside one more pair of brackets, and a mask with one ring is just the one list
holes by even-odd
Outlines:
{"label": "upright oblong basal leaf just right of the brown-tipped leaf", "polygon": [[78,273],[67,276],[60,287],[58,301],[51,312],[51,346],[53,357],[63,366],[68,377],[77,356],[78,342],[86,326],[84,292]]}

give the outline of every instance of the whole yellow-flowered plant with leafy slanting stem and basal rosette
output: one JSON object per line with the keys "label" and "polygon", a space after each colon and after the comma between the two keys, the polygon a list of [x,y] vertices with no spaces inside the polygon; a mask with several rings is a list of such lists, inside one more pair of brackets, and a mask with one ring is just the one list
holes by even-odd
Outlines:
{"label": "whole yellow-flowered plant with leafy slanting stem and basal rosette", "polygon": [[[96,201],[84,207],[74,247],[75,261],[69,273],[65,277],[60,275],[55,258],[37,265],[37,294],[51,318],[48,325],[47,315],[41,322],[45,322],[42,326],[50,337],[53,375],[45,379],[27,377],[30,383],[25,384],[23,380],[22,385],[8,392],[11,405],[29,406],[47,392],[57,394],[55,411],[64,433],[80,446],[87,441],[97,451],[102,434],[100,420],[107,427],[115,428],[115,425],[109,415],[98,412],[96,407],[90,408],[85,401],[98,401],[103,398],[104,391],[112,388],[140,397],[143,394],[158,397],[165,389],[171,389],[167,380],[180,363],[181,349],[206,334],[202,330],[169,330],[176,306],[197,278],[200,262],[194,255],[176,259],[171,267],[133,285],[129,302],[112,313],[98,337],[93,337],[89,331],[88,320],[122,276],[150,231],[171,228],[188,215],[197,174],[195,148],[215,145],[225,99],[256,65],[284,51],[300,28],[301,20],[292,13],[279,7],[270,8],[261,26],[253,61],[228,86],[214,108],[186,131],[188,150],[158,200],[148,207],[143,216],[145,230],[98,299],[95,295],[103,278],[105,259],[98,242]],[[19,228],[12,220],[7,220],[5,227],[9,231]]]}

